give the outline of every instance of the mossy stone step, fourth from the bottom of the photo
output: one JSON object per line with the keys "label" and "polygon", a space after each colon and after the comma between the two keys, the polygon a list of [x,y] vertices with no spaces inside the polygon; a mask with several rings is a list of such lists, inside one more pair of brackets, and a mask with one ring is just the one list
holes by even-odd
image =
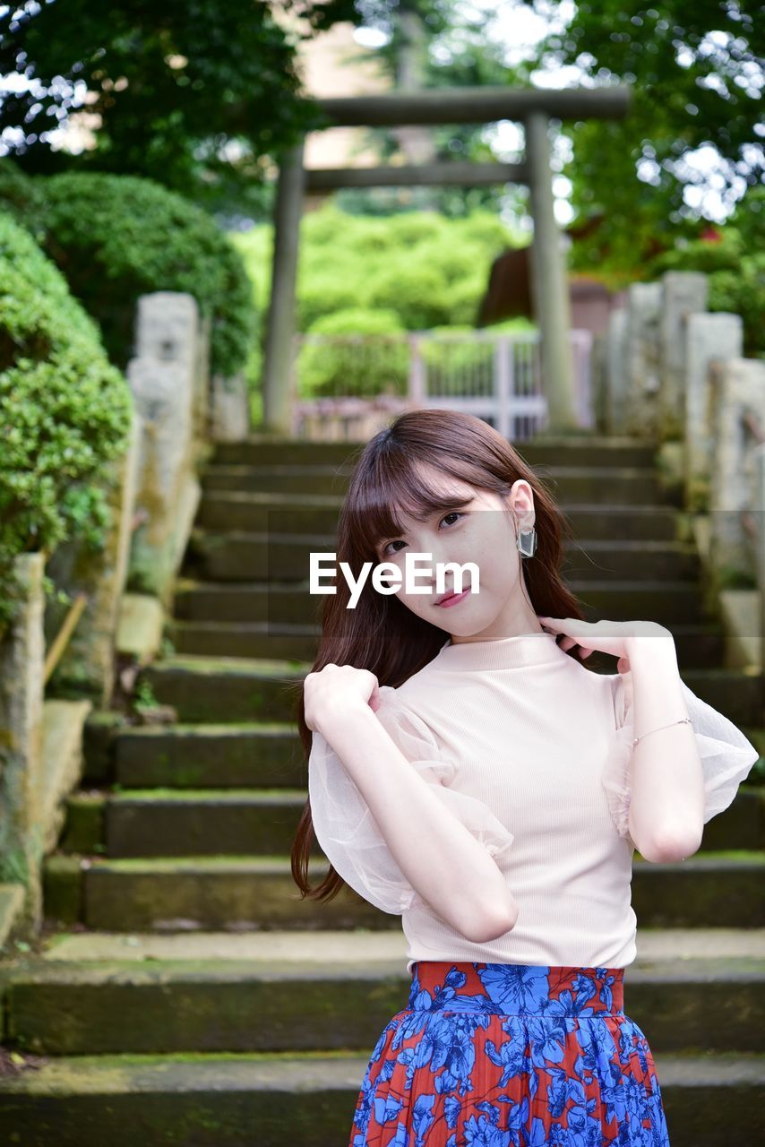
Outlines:
{"label": "mossy stone step, fourth from the bottom of the photo", "polygon": [[[225,840],[240,856],[289,853],[307,797],[307,775],[300,788],[75,793],[60,849],[115,858],[216,856]],[[741,787],[705,826],[700,851],[765,850],[764,811],[765,788]]]}

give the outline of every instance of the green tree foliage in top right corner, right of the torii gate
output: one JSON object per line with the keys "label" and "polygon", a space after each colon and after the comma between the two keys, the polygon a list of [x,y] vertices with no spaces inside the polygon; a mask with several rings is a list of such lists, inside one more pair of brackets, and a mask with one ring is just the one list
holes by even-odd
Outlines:
{"label": "green tree foliage in top right corner, right of the torii gate", "polygon": [[713,218],[701,190],[709,177],[693,162],[700,148],[720,157],[711,184],[728,208],[760,182],[764,49],[762,18],[737,0],[580,3],[565,32],[540,45],[540,63],[632,86],[626,118],[563,125],[572,205],[603,217],[596,260],[631,264],[651,240],[669,247]]}

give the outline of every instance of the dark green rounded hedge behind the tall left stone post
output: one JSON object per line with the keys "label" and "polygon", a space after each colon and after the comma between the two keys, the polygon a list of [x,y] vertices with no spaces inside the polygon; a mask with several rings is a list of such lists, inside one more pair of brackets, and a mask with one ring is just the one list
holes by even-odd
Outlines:
{"label": "dark green rounded hedge behind the tall left stone post", "polygon": [[210,317],[214,373],[244,366],[256,328],[252,283],[229,237],[194,203],[136,175],[29,179],[0,159],[0,209],[34,234],[120,369],[133,353],[138,298],[155,290],[188,291]]}

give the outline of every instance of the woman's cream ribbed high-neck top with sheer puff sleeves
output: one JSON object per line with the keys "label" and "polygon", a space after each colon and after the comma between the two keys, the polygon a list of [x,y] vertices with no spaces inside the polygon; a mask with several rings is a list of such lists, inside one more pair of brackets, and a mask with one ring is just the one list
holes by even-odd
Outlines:
{"label": "woman's cream ribbed high-neck top with sheer puff sleeves", "polygon": [[[415,960],[619,968],[635,958],[631,674],[594,672],[555,638],[450,639],[399,688],[380,689],[377,719],[506,875],[518,916],[497,939],[466,939],[420,897],[342,762],[313,734],[317,838],[351,888],[401,915],[407,972]],[[708,821],[731,804],[758,752],[685,681],[682,690]]]}

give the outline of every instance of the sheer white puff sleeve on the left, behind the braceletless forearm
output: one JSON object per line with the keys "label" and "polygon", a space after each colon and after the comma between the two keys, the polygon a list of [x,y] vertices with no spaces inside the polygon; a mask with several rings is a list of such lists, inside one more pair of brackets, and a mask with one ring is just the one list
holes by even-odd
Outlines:
{"label": "sheer white puff sleeve on the left, behind the braceletless forearm", "polygon": [[[455,766],[442,754],[426,723],[412,712],[389,685],[380,686],[375,716],[412,766],[456,820],[498,859],[514,836],[491,809],[476,797],[450,788]],[[361,793],[325,738],[313,733],[309,757],[309,801],[313,830],[335,871],[375,907],[401,915],[419,900],[388,849],[385,838]]]}

